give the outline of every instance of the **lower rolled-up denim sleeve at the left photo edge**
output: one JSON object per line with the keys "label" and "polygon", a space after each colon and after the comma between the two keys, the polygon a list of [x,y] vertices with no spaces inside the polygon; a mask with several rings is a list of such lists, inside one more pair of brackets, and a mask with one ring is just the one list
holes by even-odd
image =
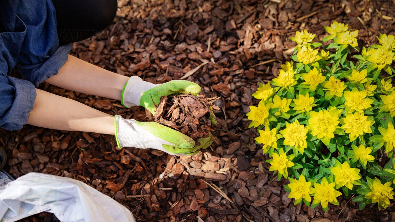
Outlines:
{"label": "lower rolled-up denim sleeve at the left photo edge", "polygon": [[19,130],[27,124],[36,100],[36,88],[29,81],[0,75],[0,127]]}

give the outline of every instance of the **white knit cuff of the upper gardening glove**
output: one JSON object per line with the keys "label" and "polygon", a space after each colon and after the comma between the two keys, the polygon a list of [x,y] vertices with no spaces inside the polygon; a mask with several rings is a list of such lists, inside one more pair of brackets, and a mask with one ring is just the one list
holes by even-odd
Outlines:
{"label": "white knit cuff of the upper gardening glove", "polygon": [[143,81],[137,75],[130,77],[122,90],[122,105],[126,108],[130,108],[134,105],[140,105],[141,94],[155,86],[156,85],[153,83]]}

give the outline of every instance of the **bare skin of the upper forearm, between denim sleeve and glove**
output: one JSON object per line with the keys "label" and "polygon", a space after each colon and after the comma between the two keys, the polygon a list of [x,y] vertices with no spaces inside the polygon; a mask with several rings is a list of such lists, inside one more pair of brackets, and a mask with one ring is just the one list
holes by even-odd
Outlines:
{"label": "bare skin of the upper forearm, between denim sleeve and glove", "polygon": [[57,75],[46,82],[57,87],[94,96],[120,100],[129,77],[105,70],[69,55]]}

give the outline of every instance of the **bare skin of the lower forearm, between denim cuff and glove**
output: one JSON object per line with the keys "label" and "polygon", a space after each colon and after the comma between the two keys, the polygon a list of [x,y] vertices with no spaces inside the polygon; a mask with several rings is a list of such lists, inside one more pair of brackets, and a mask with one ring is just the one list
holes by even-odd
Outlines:
{"label": "bare skin of the lower forearm, between denim cuff and glove", "polygon": [[83,103],[36,89],[28,124],[55,130],[114,135],[114,117]]}

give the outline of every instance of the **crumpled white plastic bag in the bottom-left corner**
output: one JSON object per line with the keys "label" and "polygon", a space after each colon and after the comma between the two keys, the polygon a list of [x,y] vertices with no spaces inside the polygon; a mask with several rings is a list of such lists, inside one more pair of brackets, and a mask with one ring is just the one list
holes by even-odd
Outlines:
{"label": "crumpled white plastic bag in the bottom-left corner", "polygon": [[135,222],[126,207],[75,179],[28,173],[0,187],[0,221],[43,211],[61,222]]}

